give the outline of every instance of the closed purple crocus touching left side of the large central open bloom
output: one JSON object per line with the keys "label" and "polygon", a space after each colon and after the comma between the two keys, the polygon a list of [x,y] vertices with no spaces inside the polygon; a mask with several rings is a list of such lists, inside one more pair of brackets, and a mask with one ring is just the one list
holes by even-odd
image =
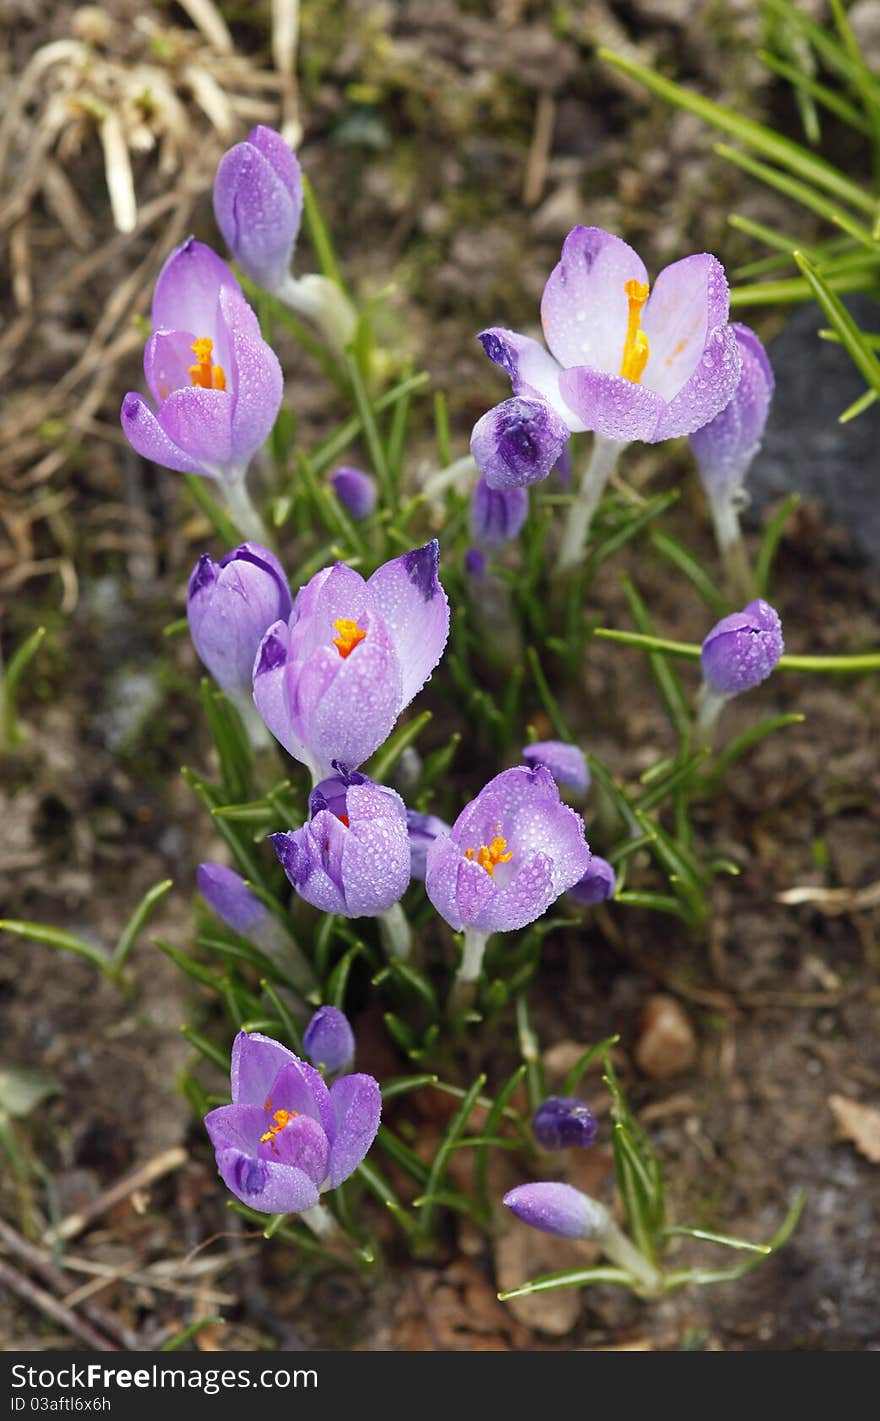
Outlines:
{"label": "closed purple crocus touching left side of the large central open bloom", "polygon": [[242,543],[219,563],[202,554],[189,578],[186,617],[199,658],[223,691],[252,703],[260,642],[291,607],[284,568],[269,549]]}

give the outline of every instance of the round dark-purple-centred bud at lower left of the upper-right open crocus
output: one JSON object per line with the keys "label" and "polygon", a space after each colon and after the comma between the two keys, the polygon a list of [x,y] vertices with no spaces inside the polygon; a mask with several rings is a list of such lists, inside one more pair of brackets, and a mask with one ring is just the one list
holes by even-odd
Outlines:
{"label": "round dark-purple-centred bud at lower left of the upper-right open crocus", "polygon": [[505,399],[473,426],[471,453],[490,489],[546,479],[569,442],[569,428],[542,399]]}

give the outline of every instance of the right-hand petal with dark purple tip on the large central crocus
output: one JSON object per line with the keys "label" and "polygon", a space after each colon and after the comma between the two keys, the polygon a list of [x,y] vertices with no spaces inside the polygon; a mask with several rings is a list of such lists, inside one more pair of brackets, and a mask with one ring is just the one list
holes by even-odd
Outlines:
{"label": "right-hand petal with dark purple tip on the large central crocus", "polygon": [[[449,637],[449,601],[438,566],[439,544],[434,539],[412,553],[384,563],[367,583],[399,662],[398,713],[425,685]],[[348,760],[341,752],[338,759],[348,764],[360,763]]]}

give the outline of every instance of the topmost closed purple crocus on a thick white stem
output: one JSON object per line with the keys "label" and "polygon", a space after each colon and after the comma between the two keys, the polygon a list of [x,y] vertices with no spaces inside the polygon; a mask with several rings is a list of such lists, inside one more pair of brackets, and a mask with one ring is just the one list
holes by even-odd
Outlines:
{"label": "topmost closed purple crocus on a thick white stem", "polygon": [[253,281],[277,288],[290,267],[303,215],[300,165],[273,128],[254,128],[220,158],[213,185],[218,227]]}

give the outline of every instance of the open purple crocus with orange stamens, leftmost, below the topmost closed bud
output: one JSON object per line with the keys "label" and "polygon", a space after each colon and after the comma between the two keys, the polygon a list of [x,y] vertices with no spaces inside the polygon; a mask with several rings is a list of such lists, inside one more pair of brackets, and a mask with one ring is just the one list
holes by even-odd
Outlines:
{"label": "open purple crocus with orange stamens, leftmost, below the topmost closed bud", "polygon": [[168,257],[152,298],[144,374],[154,409],[129,391],[122,429],[145,459],[227,485],[243,480],[274,425],[281,367],[225,261],[193,237]]}

